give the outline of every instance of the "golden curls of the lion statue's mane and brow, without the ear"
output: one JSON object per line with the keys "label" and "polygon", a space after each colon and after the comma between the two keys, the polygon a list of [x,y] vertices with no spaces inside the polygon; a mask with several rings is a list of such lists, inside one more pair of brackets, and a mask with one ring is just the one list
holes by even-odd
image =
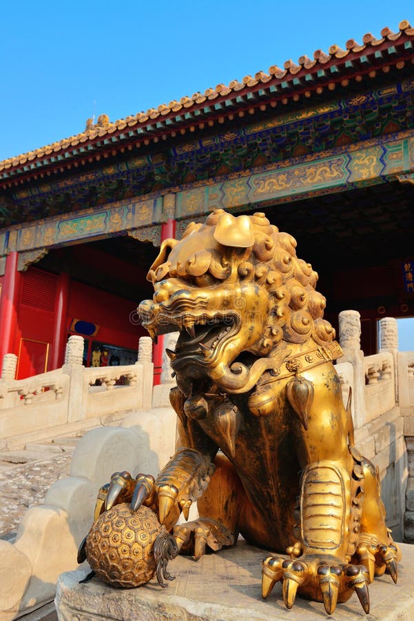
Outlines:
{"label": "golden curls of the lion statue's mane and brow, without the ear", "polygon": [[[209,215],[205,225],[190,224],[183,239],[203,226],[216,227],[222,213],[222,210],[216,210]],[[231,270],[237,269],[238,279],[256,282],[267,289],[271,306],[262,350],[271,351],[282,340],[304,343],[312,337],[320,345],[332,342],[335,330],[323,319],[326,299],[315,290],[318,273],[311,264],[296,256],[296,239],[271,225],[263,213],[251,215],[249,221],[253,246],[242,250],[231,248],[236,254],[231,261],[228,247],[221,257],[216,251],[203,248],[189,257],[181,270],[198,277],[208,272],[214,278],[227,279]]]}

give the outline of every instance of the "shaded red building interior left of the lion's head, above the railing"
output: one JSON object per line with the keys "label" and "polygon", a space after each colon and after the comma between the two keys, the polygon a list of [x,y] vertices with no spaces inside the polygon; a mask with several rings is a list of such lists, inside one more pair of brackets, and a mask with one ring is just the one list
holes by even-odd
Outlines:
{"label": "shaded red building interior left of the lion's head, above the railing", "polygon": [[[65,339],[85,339],[85,366],[136,362],[138,302],[152,295],[145,279],[147,262],[157,250],[150,243],[120,236],[50,250],[21,275],[19,295],[19,364],[17,377],[53,368],[56,307],[65,297]],[[63,344],[64,345],[64,344]],[[58,364],[63,364],[64,346]]]}

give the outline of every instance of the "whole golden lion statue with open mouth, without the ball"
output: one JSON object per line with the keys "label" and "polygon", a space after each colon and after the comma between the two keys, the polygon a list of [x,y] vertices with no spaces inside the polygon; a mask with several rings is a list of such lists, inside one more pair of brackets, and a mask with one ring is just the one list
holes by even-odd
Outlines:
{"label": "whole golden lion statue with open mouth, without the ball", "polygon": [[[180,332],[167,351],[178,449],[156,480],[116,473],[96,515],[145,504],[197,559],[241,533],[290,557],[263,563],[264,598],[282,581],[288,608],[301,593],[331,614],[355,591],[368,613],[367,585],[385,571],[397,580],[400,551],[378,473],[353,447],[333,366],[342,352],[295,239],[262,213],[216,210],[163,242],[148,279],[143,325],[154,339]],[[176,526],[196,500],[198,520]]]}

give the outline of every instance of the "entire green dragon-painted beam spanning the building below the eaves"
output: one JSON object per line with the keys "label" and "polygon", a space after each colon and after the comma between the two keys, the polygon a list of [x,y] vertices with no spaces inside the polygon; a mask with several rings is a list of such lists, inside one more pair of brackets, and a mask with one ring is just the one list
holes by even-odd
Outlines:
{"label": "entire green dragon-painted beam spanning the building below the eaves", "polygon": [[[342,152],[341,152],[342,151]],[[364,145],[334,149],[297,159],[294,164],[274,164],[261,172],[227,175],[219,183],[193,184],[176,192],[175,217],[187,219],[214,209],[255,210],[296,198],[307,198],[346,189],[386,183],[414,170],[414,130],[393,139],[375,139]],[[170,196],[167,195],[167,196]],[[163,196],[154,193],[142,199],[127,199],[105,208],[89,209],[76,215],[61,215],[14,229],[14,235],[0,235],[2,253],[50,248],[156,226],[163,221]],[[168,211],[169,208],[168,208]],[[169,217],[172,216],[168,213]],[[150,239],[146,235],[146,239]]]}

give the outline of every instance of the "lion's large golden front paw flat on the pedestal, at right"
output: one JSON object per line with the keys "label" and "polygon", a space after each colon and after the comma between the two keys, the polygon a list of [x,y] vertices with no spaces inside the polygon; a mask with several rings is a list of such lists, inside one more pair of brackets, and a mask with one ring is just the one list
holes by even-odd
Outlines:
{"label": "lion's large golden front paw flat on the pedestal, at right", "polygon": [[369,574],[365,566],[344,564],[333,557],[310,555],[296,560],[270,556],[263,562],[262,597],[267,598],[276,582],[282,582],[284,604],[293,607],[296,593],[324,603],[329,615],[336,603],[346,602],[353,591],[362,608],[369,613]]}

